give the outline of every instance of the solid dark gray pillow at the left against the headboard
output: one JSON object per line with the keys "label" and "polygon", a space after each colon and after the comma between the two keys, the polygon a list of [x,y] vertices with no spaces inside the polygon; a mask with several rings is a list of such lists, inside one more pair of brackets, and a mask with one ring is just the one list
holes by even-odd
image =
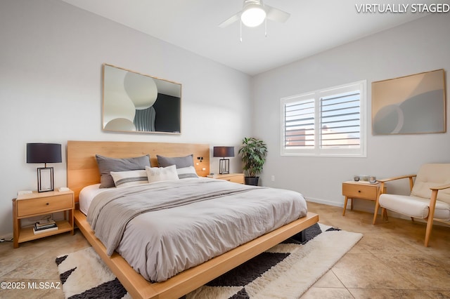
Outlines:
{"label": "solid dark gray pillow at the left against the headboard", "polygon": [[96,154],[98,171],[100,171],[100,187],[115,187],[111,171],[138,171],[150,167],[150,155],[132,158],[110,158]]}

